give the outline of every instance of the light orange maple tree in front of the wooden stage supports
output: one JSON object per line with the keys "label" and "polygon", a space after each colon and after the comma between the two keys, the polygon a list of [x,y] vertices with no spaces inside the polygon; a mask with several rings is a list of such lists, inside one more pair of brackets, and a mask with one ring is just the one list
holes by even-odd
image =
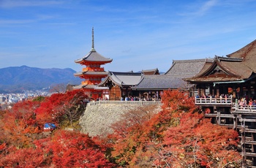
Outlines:
{"label": "light orange maple tree in front of the wooden stage supports", "polygon": [[187,113],[178,126],[165,131],[154,163],[168,167],[239,167],[237,145],[236,131],[212,125],[198,113]]}

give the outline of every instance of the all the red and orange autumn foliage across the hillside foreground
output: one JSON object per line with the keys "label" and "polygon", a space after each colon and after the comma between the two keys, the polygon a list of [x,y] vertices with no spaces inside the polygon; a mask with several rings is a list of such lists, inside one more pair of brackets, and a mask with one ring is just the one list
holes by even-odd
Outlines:
{"label": "all the red and orange autumn foliage across the hillside foreground", "polygon": [[0,167],[240,167],[237,132],[211,124],[180,91],[165,91],[157,113],[123,114],[106,137],[80,133],[86,98],[55,93],[1,111]]}

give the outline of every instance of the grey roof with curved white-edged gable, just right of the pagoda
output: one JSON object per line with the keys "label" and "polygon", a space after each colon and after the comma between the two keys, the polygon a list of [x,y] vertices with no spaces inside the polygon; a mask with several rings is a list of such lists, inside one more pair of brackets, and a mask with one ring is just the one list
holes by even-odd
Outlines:
{"label": "grey roof with curved white-edged gable, just right of the pagoda", "polygon": [[108,77],[99,83],[99,86],[105,85],[109,81],[119,86],[132,86],[138,84],[141,77],[140,72],[108,72]]}

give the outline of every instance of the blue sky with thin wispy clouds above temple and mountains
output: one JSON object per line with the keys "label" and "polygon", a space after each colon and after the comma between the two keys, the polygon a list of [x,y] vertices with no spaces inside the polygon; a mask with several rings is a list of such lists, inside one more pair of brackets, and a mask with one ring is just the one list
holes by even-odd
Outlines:
{"label": "blue sky with thin wispy clouds above temple and mountains", "polygon": [[256,0],[0,0],[0,68],[72,68],[95,50],[106,71],[226,56],[256,39]]}

